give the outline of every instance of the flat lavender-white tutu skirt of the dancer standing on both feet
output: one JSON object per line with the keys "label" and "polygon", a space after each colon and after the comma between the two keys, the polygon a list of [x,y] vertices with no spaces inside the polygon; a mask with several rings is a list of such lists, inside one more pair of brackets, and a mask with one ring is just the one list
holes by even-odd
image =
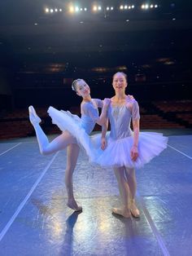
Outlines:
{"label": "flat lavender-white tutu skirt of the dancer standing on both feet", "polygon": [[151,161],[152,158],[159,155],[160,152],[167,148],[168,138],[160,133],[140,132],[138,139],[138,157],[137,161],[132,161],[130,157],[133,145],[133,135],[124,139],[111,139],[107,132],[107,148],[99,149],[101,146],[101,135],[91,137],[94,148],[98,148],[92,162],[103,167],[120,167],[141,168]]}

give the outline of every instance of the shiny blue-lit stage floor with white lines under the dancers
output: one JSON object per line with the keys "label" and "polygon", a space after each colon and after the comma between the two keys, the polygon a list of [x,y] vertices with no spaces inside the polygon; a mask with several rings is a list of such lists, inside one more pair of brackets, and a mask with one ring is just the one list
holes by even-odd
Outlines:
{"label": "shiny blue-lit stage floor with white lines under the dancers", "polygon": [[165,130],[168,148],[137,170],[140,219],[111,214],[120,205],[113,171],[74,173],[76,200],[66,206],[66,150],[43,157],[36,138],[0,143],[0,255],[192,255],[192,132]]}

